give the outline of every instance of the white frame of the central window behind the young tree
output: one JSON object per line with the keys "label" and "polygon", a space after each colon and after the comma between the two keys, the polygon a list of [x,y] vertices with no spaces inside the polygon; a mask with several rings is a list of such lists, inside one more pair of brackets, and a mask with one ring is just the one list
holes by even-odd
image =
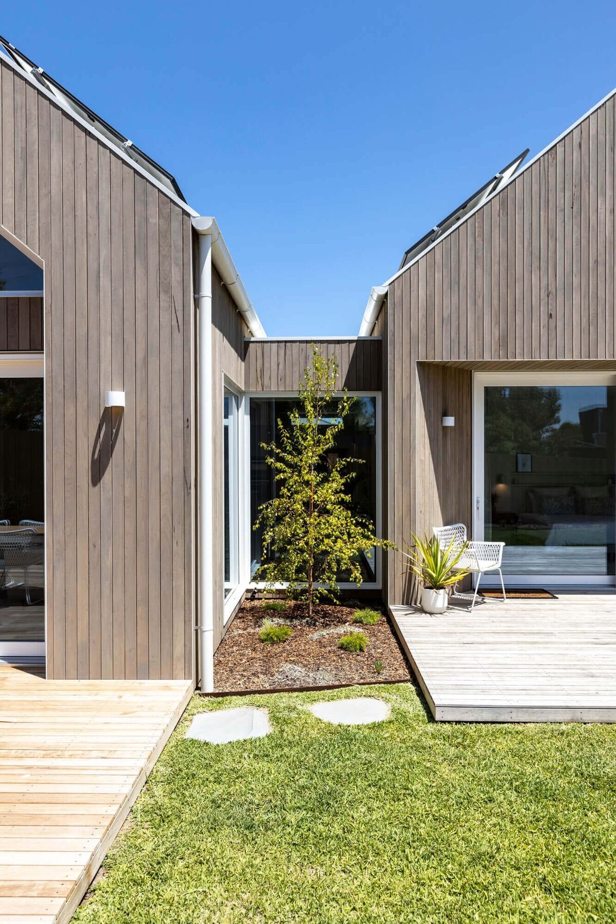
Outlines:
{"label": "white frame of the central window behind the young tree", "polygon": [[[375,452],[376,452],[376,464],[375,464],[375,479],[376,479],[376,522],[374,524],[375,533],[378,537],[381,536],[382,530],[382,432],[380,427],[380,415],[381,415],[381,393],[378,391],[359,391],[359,392],[348,392],[351,397],[370,397],[375,398]],[[342,397],[342,392],[336,392],[334,397]],[[247,471],[247,509],[246,509],[246,522],[248,524],[248,529],[246,532],[247,536],[247,561],[248,561],[248,588],[251,590],[264,590],[265,581],[253,581],[250,580],[249,568],[250,568],[250,530],[252,529],[252,523],[250,521],[250,398],[297,398],[297,392],[250,392],[245,396],[246,401],[246,455],[245,459],[245,468]],[[373,581],[363,581],[360,585],[360,590],[382,590],[382,551],[380,548],[374,550],[374,573],[375,580]],[[274,585],[276,590],[285,590],[288,587],[288,581],[281,581],[278,584]],[[317,584],[317,587],[320,587],[320,584]],[[357,590],[357,585],[351,581],[341,581],[338,584],[340,590]]]}

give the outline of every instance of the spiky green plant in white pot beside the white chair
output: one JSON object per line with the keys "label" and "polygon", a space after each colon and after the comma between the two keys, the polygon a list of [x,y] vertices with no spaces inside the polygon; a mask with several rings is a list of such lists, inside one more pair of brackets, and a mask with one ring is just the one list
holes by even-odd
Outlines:
{"label": "spiky green plant in white pot beside the white chair", "polygon": [[457,566],[467,543],[453,539],[446,549],[441,549],[436,536],[419,539],[414,535],[413,541],[415,545],[407,545],[405,554],[422,585],[421,608],[424,613],[444,613],[449,589],[468,574],[464,567]]}

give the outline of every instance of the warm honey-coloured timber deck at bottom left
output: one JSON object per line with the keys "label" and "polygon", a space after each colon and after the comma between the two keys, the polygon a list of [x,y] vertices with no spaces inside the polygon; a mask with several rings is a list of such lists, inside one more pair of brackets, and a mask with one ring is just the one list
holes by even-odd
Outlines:
{"label": "warm honey-coloured timber deck at bottom left", "polygon": [[191,692],[0,664],[0,924],[70,920]]}

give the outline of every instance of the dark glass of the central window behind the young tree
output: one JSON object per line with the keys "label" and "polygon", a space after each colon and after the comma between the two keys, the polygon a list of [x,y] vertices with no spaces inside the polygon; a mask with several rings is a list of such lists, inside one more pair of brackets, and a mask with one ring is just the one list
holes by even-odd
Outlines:
{"label": "dark glass of the central window behind the young tree", "polygon": [[[266,452],[261,444],[276,440],[278,421],[286,426],[289,412],[298,407],[296,398],[250,398],[250,517],[255,523],[261,504],[275,496],[272,468],[265,461]],[[335,413],[333,407],[326,408],[323,419]],[[356,477],[350,482],[351,501],[362,517],[377,525],[377,401],[374,395],[356,397],[351,411],[344,422],[344,430],[338,433],[332,456],[343,456],[361,461],[353,467]],[[327,426],[325,422],[323,426]],[[327,460],[323,460],[327,464]],[[254,574],[261,562],[262,534],[251,529],[250,558]],[[361,566],[364,580],[376,581],[375,553],[362,556]],[[340,575],[344,581],[344,575]]]}

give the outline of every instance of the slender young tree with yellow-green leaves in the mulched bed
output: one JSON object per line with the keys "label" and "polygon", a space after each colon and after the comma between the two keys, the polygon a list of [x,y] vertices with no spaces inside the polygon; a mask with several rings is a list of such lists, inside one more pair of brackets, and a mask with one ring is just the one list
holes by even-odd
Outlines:
{"label": "slender young tree with yellow-green leaves in the mulched bed", "polygon": [[276,497],[260,506],[255,523],[263,528],[263,557],[272,553],[257,577],[269,586],[288,581],[289,590],[308,602],[308,616],[314,601],[337,594],[340,572],[361,584],[360,553],[393,548],[351,508],[349,485],[356,473],[350,467],[361,460],[331,452],[354,402],[345,391],[334,397],[337,371],[335,359],[323,359],[313,345],[312,367],[298,386],[300,409],[291,411],[287,426],[278,420],[277,443],[262,444]]}

